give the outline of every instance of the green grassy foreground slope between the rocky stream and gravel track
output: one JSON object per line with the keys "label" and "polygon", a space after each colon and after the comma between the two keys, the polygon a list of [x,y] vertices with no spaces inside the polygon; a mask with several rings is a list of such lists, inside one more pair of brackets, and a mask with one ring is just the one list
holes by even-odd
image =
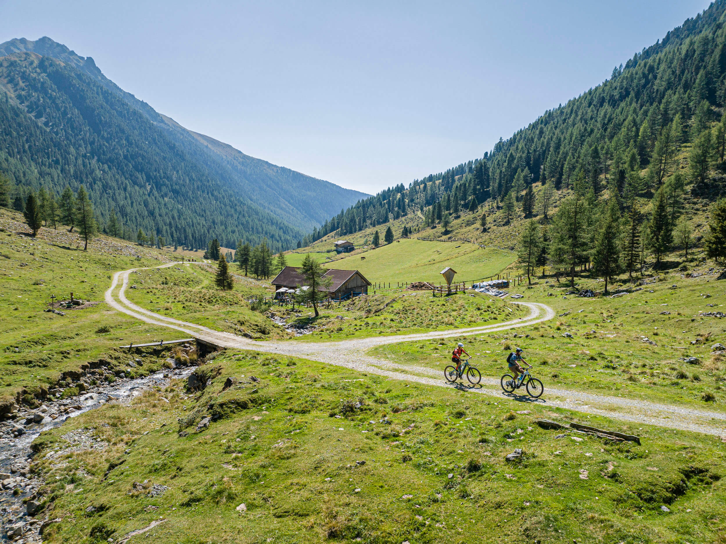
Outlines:
{"label": "green grassy foreground slope between the rocky stream and gravel track", "polygon": [[[41,435],[43,515],[62,519],[44,541],[118,541],[153,520],[163,520],[147,533],[154,542],[184,544],[725,536],[726,444],[713,437],[292,357],[230,350],[206,367],[216,377],[203,392],[175,381]],[[228,377],[238,381],[223,391]],[[203,415],[214,421],[197,431]],[[538,417],[637,434],[642,445],[546,431]],[[62,435],[73,429],[105,447],[70,450]],[[509,463],[514,448],[523,457]]]}

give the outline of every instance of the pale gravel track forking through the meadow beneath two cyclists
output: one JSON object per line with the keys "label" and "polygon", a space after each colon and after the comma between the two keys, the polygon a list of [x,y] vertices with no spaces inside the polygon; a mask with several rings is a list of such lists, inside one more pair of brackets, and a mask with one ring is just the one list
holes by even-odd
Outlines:
{"label": "pale gravel track forking through the meadow beneath two cyclists", "polygon": [[[163,264],[158,268],[172,267],[178,262]],[[537,402],[550,407],[563,407],[579,412],[603,415],[609,418],[617,418],[632,423],[646,423],[671,429],[682,429],[695,431],[704,434],[713,434],[717,437],[726,436],[726,413],[719,413],[709,410],[698,410],[696,408],[663,405],[656,402],[648,402],[624,397],[611,397],[582,391],[568,391],[566,389],[545,388],[546,399],[530,399],[526,396],[509,395],[503,393],[499,388],[499,380],[495,378],[482,378],[482,383],[476,388],[446,383],[442,370],[418,367],[414,365],[399,365],[387,360],[380,360],[371,357],[366,352],[375,346],[385,344],[396,344],[404,341],[430,340],[431,338],[450,338],[475,333],[491,333],[498,330],[509,330],[518,327],[534,325],[542,321],[551,320],[555,317],[555,311],[546,304],[538,302],[513,302],[522,304],[531,309],[527,317],[515,320],[484,325],[481,327],[460,328],[454,330],[432,331],[429,333],[407,334],[400,336],[376,336],[371,338],[354,338],[351,340],[340,340],[333,342],[306,342],[306,341],[254,341],[232,333],[224,333],[213,330],[202,325],[176,320],[166,317],[134,304],[126,298],[125,291],[129,286],[129,274],[139,269],[129,269],[116,272],[113,275],[110,288],[105,293],[107,304],[119,312],[128,314],[136,319],[175,330],[179,330],[189,336],[206,340],[217,346],[254,349],[258,352],[269,352],[293,357],[325,362],[330,365],[338,365],[345,368],[358,370],[359,372],[371,373],[386,376],[396,380],[404,380],[415,383],[422,383],[429,386],[449,387],[470,391],[473,393],[487,394],[494,397],[511,398],[521,401],[523,404]],[[121,288],[114,293],[119,283]]]}

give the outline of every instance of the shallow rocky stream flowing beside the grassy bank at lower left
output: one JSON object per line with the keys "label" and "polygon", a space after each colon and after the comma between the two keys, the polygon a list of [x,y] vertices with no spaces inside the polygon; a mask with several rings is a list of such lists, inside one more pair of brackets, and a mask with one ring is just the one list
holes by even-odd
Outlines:
{"label": "shallow rocky stream flowing beside the grassy bank at lower left", "polygon": [[[0,423],[0,435],[3,436],[0,438],[0,484],[2,487],[0,490],[0,542],[15,544],[41,542],[39,533],[43,521],[30,516],[23,503],[25,498],[35,498],[33,495],[36,495],[38,489],[45,484],[43,479],[33,476],[29,472],[33,457],[30,444],[41,432],[60,427],[69,418],[75,418],[89,410],[102,407],[107,402],[126,403],[147,389],[155,386],[166,387],[171,378],[186,378],[195,368],[195,366],[189,366],[174,370],[165,369],[142,378],[123,378],[105,386],[91,387],[89,391],[70,399],[51,400],[49,397],[43,407],[46,407],[47,414],[58,413],[57,418],[44,416],[39,423],[23,425],[25,416],[41,413],[43,410],[41,407],[36,410],[21,409],[20,413],[23,415],[18,415],[15,421]],[[70,410],[69,407],[71,407]],[[61,413],[65,410],[68,410],[67,413]],[[23,434],[13,437],[13,429],[18,432],[21,428]],[[100,439],[95,440],[100,441]],[[91,442],[91,444],[93,443]],[[97,446],[105,447],[105,443],[97,444]],[[46,455],[51,454],[52,452]],[[38,513],[38,518],[46,519],[46,517],[42,512]]]}

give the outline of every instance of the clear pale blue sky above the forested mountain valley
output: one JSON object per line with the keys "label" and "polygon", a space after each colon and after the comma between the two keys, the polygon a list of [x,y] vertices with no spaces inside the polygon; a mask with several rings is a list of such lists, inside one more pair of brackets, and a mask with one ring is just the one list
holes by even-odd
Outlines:
{"label": "clear pale blue sky above the forested mountain valley", "polygon": [[189,129],[364,192],[481,157],[703,0],[0,0]]}

